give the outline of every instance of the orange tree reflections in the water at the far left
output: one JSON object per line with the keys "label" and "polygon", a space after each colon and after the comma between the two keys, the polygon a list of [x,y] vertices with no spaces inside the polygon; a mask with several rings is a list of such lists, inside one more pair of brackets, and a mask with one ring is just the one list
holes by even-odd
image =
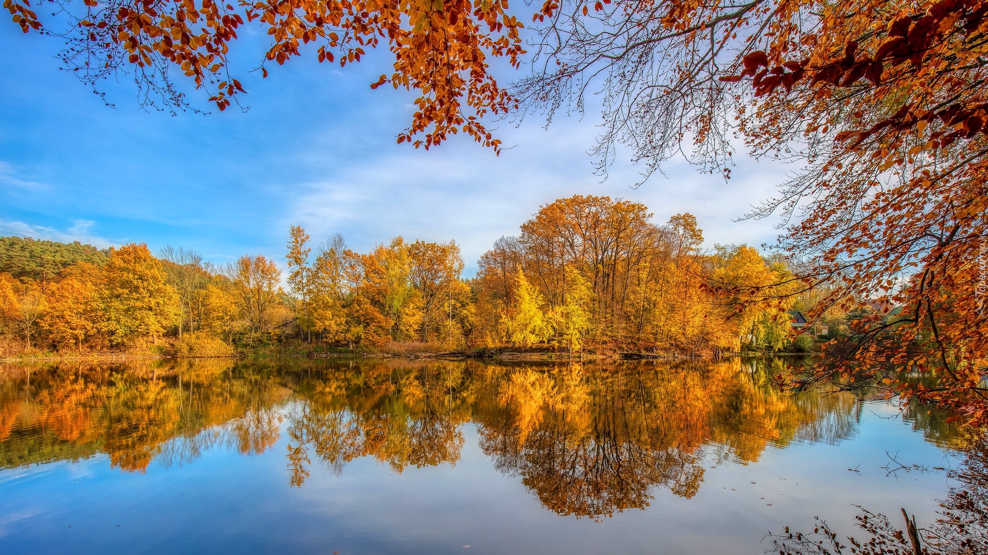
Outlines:
{"label": "orange tree reflections in the water at the far left", "polygon": [[54,364],[0,380],[0,467],[78,459],[97,452],[126,471],[152,459],[182,464],[217,444],[260,452],[277,441],[271,407],[288,390],[196,364]]}

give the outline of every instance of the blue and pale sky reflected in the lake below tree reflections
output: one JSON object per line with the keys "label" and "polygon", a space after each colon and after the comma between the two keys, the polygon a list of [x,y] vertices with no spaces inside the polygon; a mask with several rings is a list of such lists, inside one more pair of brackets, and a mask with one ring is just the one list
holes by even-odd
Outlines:
{"label": "blue and pale sky reflected in the lake below tree reflections", "polygon": [[881,467],[886,450],[927,466],[946,466],[946,451],[889,405],[857,412],[846,439],[770,443],[746,464],[707,442],[694,497],[653,487],[646,509],[600,523],[548,511],[521,476],[495,468],[473,422],[460,427],[453,465],[396,473],[365,456],[335,474],[313,456],[304,485],[289,488],[285,419],[277,443],[254,456],[220,442],[143,474],[112,468],[104,454],[0,471],[0,553],[762,553],[769,530],[812,528],[813,515],[852,531],[855,504],[929,521],[944,474]]}

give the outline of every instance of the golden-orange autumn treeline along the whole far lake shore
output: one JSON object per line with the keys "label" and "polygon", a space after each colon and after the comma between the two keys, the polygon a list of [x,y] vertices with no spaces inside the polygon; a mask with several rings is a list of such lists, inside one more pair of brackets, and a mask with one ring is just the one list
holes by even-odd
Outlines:
{"label": "golden-orange autumn treeline along the whole far lake shore", "polygon": [[[795,301],[784,261],[701,243],[690,214],[656,224],[641,203],[582,196],[542,206],[469,279],[454,241],[396,237],[358,253],[340,235],[313,245],[299,226],[284,281],[263,255],[218,267],[182,248],[153,256],[143,244],[99,251],[8,237],[0,332],[8,353],[223,356],[287,341],[692,355],[786,346]],[[786,300],[742,305],[730,293],[740,288]]]}

